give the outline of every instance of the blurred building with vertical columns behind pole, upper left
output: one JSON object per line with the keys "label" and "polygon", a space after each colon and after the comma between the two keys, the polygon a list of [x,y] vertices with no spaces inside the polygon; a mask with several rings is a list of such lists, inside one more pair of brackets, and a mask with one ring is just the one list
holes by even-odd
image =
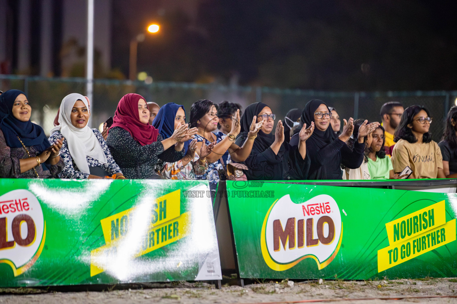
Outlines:
{"label": "blurred building with vertical columns behind pole, upper left", "polygon": [[[112,0],[95,1],[98,68],[111,68]],[[87,0],[0,0],[0,73],[84,75]]]}

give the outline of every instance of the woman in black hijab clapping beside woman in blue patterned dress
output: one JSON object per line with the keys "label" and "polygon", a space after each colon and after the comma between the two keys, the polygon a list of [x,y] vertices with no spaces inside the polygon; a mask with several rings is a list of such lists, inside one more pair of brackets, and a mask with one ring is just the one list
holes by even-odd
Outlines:
{"label": "woman in black hijab clapping beside woman in blue patterned dress", "polygon": [[273,124],[276,118],[270,107],[265,103],[250,104],[241,117],[241,132],[235,144],[243,144],[248,137],[251,117],[257,116],[257,122],[265,120],[255,138],[251,154],[243,162],[249,170],[244,173],[248,180],[305,180],[309,168],[309,158],[306,156],[305,141],[313,134],[314,123],[306,129],[303,125],[298,133],[298,144],[292,147],[284,142],[284,127],[281,120],[276,125],[273,134]]}

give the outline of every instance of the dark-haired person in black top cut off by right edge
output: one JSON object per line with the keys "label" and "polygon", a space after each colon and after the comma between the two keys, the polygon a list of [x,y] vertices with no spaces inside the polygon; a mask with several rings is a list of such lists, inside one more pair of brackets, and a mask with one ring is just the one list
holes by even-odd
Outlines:
{"label": "dark-haired person in black top cut off by right edge", "polygon": [[443,171],[446,178],[457,177],[457,107],[453,106],[446,117],[443,138],[438,143],[443,155]]}

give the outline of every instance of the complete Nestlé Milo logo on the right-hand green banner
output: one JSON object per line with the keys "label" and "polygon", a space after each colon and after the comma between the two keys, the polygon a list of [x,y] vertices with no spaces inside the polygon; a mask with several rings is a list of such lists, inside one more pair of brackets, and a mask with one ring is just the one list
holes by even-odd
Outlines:
{"label": "complete Nestl\u00e9 Milo logo on the right-hand green banner", "polygon": [[286,270],[305,258],[313,258],[322,269],[335,258],[341,236],[340,210],[331,196],[314,196],[300,204],[286,195],[265,218],[262,254],[275,270]]}

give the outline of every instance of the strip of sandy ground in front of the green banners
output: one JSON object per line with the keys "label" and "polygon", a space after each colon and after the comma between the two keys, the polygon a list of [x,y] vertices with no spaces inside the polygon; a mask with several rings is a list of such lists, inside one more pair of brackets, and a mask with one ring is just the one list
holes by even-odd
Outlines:
{"label": "strip of sandy ground in front of the green banners", "polygon": [[[236,280],[235,280],[236,282]],[[231,283],[234,283],[232,281]],[[127,286],[128,287],[128,286]],[[134,287],[133,285],[131,287]],[[0,289],[0,304],[13,303],[258,303],[289,302],[306,299],[332,299],[337,303],[457,303],[457,298],[410,298],[418,296],[457,296],[456,278],[424,278],[382,281],[303,281],[267,283],[252,282],[244,288],[225,284],[216,289],[214,284],[206,282],[173,282],[166,284],[142,284],[137,289],[123,289],[126,285],[107,287],[103,291],[71,292],[59,288],[56,290],[40,289]],[[68,290],[68,289],[67,289]],[[403,299],[380,299],[397,297]],[[373,300],[341,299],[377,298]],[[321,302],[322,303],[322,302]],[[330,303],[328,301],[324,303]]]}

